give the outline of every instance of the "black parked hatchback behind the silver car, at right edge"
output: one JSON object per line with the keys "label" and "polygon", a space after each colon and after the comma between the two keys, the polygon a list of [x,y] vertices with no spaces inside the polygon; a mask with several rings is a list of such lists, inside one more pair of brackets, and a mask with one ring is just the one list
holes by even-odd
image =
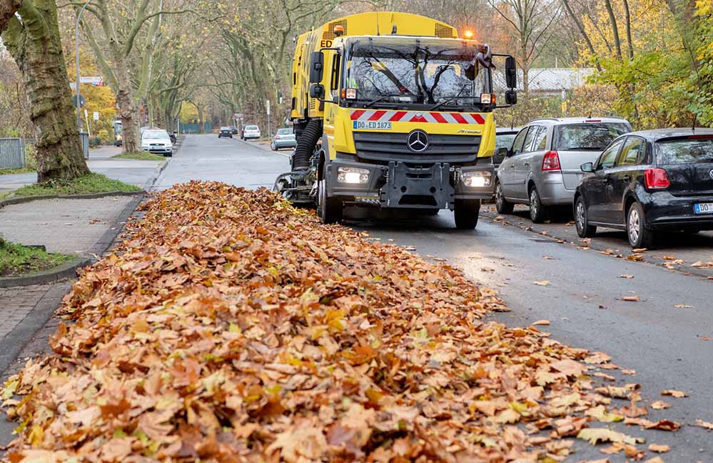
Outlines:
{"label": "black parked hatchback behind the silver car, at right edge", "polygon": [[595,163],[575,193],[580,237],[597,226],[627,231],[634,248],[659,231],[713,229],[713,130],[660,129],[624,134]]}

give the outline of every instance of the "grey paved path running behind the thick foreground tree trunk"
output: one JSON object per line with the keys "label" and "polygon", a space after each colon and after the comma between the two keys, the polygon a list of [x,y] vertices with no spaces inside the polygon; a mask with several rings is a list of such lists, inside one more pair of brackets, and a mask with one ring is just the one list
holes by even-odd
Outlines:
{"label": "grey paved path running behind the thick foreground tree trunk", "polygon": [[[158,174],[158,169],[165,161],[139,161],[138,159],[114,159],[113,156],[121,154],[117,146],[103,146],[89,151],[87,165],[89,170],[104,174],[110,179],[121,180],[124,183],[146,188],[148,182]],[[33,184],[37,181],[37,174],[10,174],[0,175],[0,193],[12,191]]]}

